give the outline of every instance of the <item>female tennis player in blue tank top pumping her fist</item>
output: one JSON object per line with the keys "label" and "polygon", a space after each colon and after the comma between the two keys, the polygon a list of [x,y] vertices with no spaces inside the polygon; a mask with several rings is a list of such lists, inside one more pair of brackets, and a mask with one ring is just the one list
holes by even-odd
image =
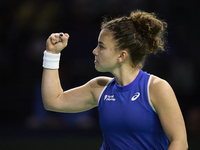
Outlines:
{"label": "female tennis player in blue tank top pumping her fist", "polygon": [[166,23],[155,14],[139,10],[104,21],[93,50],[94,64],[97,71],[110,72],[114,78],[96,77],[67,91],[61,87],[58,68],[69,35],[51,34],[43,59],[44,107],[76,113],[98,106],[104,138],[100,150],[188,149],[184,119],[171,86],[141,70],[148,53],[164,50],[165,29]]}

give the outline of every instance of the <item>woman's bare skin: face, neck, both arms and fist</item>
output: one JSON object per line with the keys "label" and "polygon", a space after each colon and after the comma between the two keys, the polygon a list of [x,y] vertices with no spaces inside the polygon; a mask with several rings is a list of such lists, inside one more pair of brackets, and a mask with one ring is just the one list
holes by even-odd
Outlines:
{"label": "woman's bare skin: face, neck, both arms and fist", "polygon": [[[69,39],[68,34],[52,34],[46,44],[49,53],[60,53]],[[95,68],[100,72],[111,72],[120,86],[131,83],[139,73],[133,68],[127,50],[116,50],[112,33],[102,30],[98,45],[93,50]],[[63,91],[57,69],[45,69],[42,77],[42,97],[47,110],[57,112],[82,112],[98,106],[100,93],[110,80],[97,77],[86,84]],[[150,101],[155,108],[162,127],[170,141],[168,150],[188,148],[185,124],[179,104],[171,86],[163,79],[153,76],[149,86]]]}

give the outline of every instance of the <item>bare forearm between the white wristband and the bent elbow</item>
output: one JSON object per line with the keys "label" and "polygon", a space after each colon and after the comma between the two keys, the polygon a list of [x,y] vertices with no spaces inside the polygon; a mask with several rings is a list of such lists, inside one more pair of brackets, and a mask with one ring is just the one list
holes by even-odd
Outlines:
{"label": "bare forearm between the white wristband and the bent elbow", "polygon": [[45,69],[42,76],[42,99],[44,107],[51,109],[55,100],[63,93],[58,69]]}

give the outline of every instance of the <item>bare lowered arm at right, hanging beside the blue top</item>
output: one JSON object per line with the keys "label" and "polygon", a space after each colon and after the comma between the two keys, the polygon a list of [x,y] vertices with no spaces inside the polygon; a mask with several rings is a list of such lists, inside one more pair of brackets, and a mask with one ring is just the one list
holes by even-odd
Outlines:
{"label": "bare lowered arm at right, hanging beside the blue top", "polygon": [[171,86],[153,77],[149,90],[151,102],[170,141],[168,150],[187,150],[185,123]]}

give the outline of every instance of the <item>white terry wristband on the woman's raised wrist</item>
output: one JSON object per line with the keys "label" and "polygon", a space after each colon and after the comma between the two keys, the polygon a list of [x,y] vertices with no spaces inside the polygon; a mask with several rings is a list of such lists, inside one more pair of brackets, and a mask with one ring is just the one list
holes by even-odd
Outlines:
{"label": "white terry wristband on the woman's raised wrist", "polygon": [[43,67],[47,69],[58,69],[60,62],[60,53],[52,54],[44,51]]}

